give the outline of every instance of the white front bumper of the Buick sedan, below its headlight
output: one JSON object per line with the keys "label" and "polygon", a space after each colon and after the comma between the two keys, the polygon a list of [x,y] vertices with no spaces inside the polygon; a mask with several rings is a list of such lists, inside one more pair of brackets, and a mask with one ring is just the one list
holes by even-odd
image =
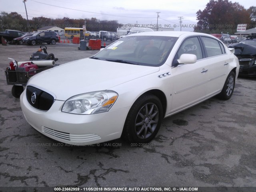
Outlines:
{"label": "white front bumper of the Buick sedan, below its headlight", "polygon": [[61,112],[64,101],[55,100],[48,111],[37,110],[20,96],[27,122],[38,132],[71,145],[90,145],[120,138],[130,108],[100,114],[78,115]]}

